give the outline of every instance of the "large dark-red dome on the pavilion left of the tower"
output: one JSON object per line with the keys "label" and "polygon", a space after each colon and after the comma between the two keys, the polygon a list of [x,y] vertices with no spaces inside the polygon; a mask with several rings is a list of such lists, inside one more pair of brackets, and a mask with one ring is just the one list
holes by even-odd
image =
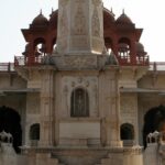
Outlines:
{"label": "large dark-red dome on the pavilion left of the tower", "polygon": [[48,20],[42,14],[42,12],[32,22],[33,26],[43,26],[47,24]]}

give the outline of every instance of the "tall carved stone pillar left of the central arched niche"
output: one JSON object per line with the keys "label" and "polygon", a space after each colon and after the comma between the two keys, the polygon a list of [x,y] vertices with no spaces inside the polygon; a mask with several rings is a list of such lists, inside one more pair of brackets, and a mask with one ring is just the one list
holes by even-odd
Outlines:
{"label": "tall carved stone pillar left of the central arched niche", "polygon": [[41,87],[41,146],[54,145],[54,70],[43,68]]}

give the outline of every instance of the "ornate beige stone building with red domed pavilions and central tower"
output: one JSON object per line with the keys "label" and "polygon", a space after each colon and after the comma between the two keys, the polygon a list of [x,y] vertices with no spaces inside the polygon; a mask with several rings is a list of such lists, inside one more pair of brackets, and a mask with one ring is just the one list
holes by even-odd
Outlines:
{"label": "ornate beige stone building with red domed pavilions and central tower", "polygon": [[146,165],[144,116],[165,102],[165,70],[150,63],[142,31],[101,0],[59,0],[50,20],[41,12],[22,30],[23,55],[0,67],[13,164]]}

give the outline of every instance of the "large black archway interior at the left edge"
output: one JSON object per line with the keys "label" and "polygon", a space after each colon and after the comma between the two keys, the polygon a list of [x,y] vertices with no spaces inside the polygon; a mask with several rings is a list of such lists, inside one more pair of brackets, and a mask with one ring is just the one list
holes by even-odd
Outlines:
{"label": "large black archway interior at the left edge", "polygon": [[21,118],[12,108],[0,107],[0,132],[3,130],[13,136],[13,147],[16,153],[20,152],[19,146],[22,144]]}

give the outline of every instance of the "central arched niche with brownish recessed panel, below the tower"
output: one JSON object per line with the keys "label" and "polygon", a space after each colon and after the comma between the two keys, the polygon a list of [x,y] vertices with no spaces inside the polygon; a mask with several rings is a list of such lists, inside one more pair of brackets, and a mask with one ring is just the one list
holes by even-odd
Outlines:
{"label": "central arched niche with brownish recessed panel, below the tower", "polygon": [[89,117],[89,97],[85,89],[75,89],[70,103],[70,117]]}

